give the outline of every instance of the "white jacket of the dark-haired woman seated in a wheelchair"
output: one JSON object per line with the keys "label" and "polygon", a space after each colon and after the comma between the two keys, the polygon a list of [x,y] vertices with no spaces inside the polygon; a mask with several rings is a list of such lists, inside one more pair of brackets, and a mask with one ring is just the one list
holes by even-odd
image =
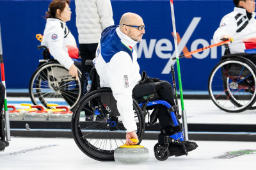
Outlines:
{"label": "white jacket of the dark-haired woman seated in a wheelchair", "polygon": [[[41,45],[45,45],[54,59],[69,69],[74,63],[68,55],[68,46],[77,49],[76,40],[65,22],[60,19],[46,20],[44,36]],[[78,49],[77,49],[78,51]]]}

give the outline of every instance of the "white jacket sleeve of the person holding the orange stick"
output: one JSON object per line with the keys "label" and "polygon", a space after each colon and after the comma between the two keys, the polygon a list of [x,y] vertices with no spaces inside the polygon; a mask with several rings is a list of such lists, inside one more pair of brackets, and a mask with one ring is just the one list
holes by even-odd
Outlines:
{"label": "white jacket sleeve of the person holding the orange stick", "polygon": [[221,42],[224,35],[230,35],[232,38],[236,34],[237,23],[236,19],[230,15],[226,15],[221,19],[220,27],[215,31],[213,40],[215,43]]}

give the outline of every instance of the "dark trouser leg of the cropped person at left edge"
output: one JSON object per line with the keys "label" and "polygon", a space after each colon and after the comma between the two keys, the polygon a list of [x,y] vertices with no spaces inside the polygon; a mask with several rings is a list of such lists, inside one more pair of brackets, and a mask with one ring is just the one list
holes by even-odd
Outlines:
{"label": "dark trouser leg of the cropped person at left edge", "polygon": [[4,141],[4,114],[3,114],[3,105],[4,105],[4,95],[5,88],[2,82],[0,82],[0,139]]}

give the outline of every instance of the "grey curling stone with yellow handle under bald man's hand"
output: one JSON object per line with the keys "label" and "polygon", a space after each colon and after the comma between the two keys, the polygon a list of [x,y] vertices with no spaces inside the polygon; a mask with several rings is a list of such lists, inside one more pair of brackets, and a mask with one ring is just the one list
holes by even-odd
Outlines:
{"label": "grey curling stone with yellow handle under bald man's hand", "polygon": [[[131,139],[137,142],[138,139]],[[116,162],[124,164],[138,164],[148,160],[148,149],[141,145],[122,145],[114,151]]]}

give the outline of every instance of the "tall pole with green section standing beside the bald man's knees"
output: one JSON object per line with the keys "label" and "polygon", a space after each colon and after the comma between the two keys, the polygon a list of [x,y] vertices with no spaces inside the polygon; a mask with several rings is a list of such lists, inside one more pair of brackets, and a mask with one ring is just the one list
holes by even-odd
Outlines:
{"label": "tall pole with green section standing beside the bald man's knees", "polygon": [[177,42],[173,0],[170,0],[170,4],[171,4],[171,12],[172,12],[172,27],[173,27],[173,37],[174,37],[174,44],[175,44],[175,56],[177,61],[177,71],[178,71],[178,79],[179,79],[180,103],[181,103],[181,109],[182,109],[182,125],[183,125],[183,131],[184,131],[184,139],[188,140],[188,124],[187,124],[186,111],[184,111],[184,100],[183,100],[183,91],[182,91],[182,83],[181,83],[181,75],[180,75],[179,49],[178,49],[178,42]]}

